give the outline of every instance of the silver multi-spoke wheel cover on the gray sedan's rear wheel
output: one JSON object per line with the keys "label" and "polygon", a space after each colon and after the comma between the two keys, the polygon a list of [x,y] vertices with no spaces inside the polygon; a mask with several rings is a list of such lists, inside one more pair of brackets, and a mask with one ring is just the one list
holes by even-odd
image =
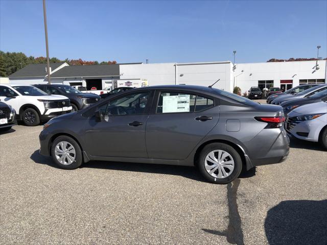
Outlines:
{"label": "silver multi-spoke wheel cover on the gray sedan's rear wheel", "polygon": [[209,152],[204,159],[204,167],[214,178],[224,179],[231,175],[235,163],[232,156],[223,150]]}

